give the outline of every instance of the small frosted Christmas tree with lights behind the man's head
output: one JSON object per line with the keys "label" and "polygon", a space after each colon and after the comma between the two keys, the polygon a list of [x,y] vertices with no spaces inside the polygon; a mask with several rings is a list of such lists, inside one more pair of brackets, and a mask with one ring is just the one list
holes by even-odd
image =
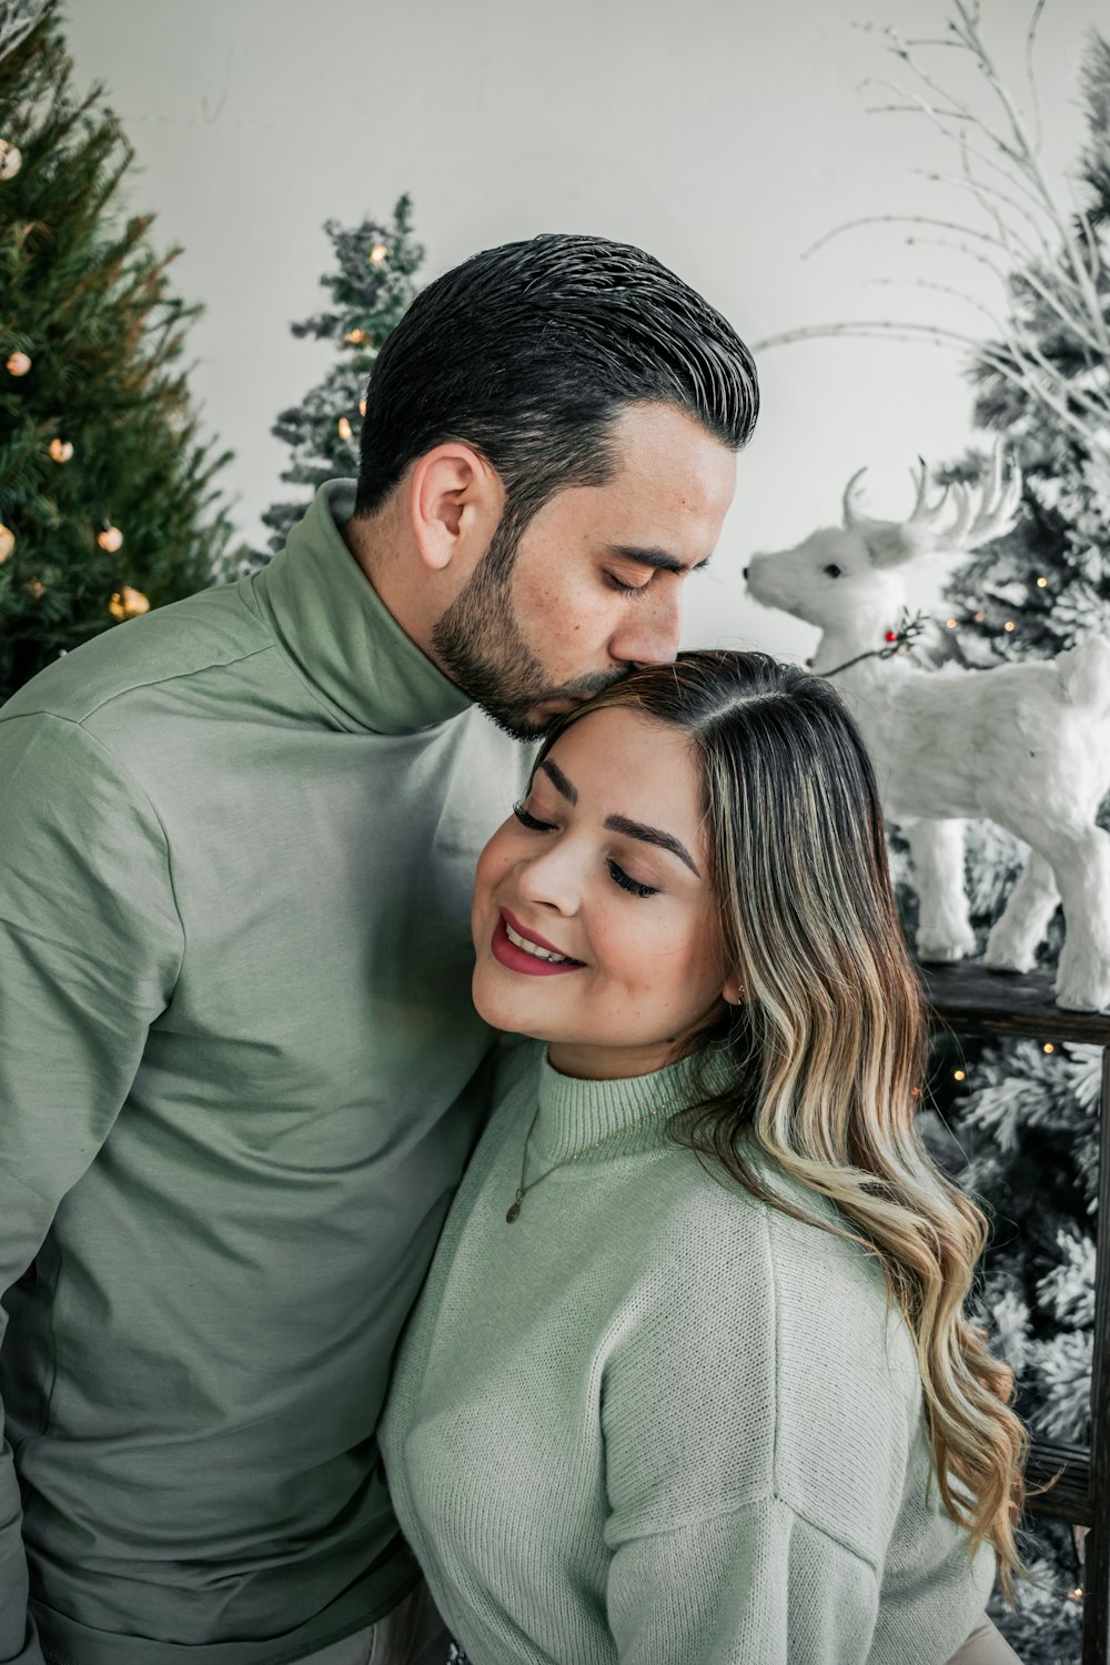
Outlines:
{"label": "small frosted Christmas tree with lights behind the man's head", "polygon": [[248,566],[260,566],[285,548],[290,526],[301,518],[318,486],[358,473],[366,383],[386,336],[416,295],[413,276],[424,258],[413,238],[411,206],[409,198],[401,196],[389,226],[369,218],[351,228],[338,220],[325,223],[336,266],[320,281],[331,306],[291,328],[296,336],[334,341],[339,356],[301,405],[281,411],[271,430],[293,453],[281,480],[306,490],[300,500],[266,509],[266,553],[251,556]]}

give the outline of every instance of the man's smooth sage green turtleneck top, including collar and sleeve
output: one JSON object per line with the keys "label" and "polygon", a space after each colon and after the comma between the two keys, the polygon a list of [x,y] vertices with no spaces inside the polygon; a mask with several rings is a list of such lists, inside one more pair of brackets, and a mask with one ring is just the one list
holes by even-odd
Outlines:
{"label": "man's smooth sage green turtleneck top, including collar and sleeve", "polygon": [[416,1577],[374,1427],[484,1109],[469,892],[526,753],[351,508],[0,713],[3,1662],[278,1665]]}

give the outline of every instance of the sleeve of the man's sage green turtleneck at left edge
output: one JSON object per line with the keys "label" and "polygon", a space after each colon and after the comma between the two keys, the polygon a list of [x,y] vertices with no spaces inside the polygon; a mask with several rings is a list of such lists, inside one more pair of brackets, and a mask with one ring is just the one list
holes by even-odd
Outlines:
{"label": "sleeve of the man's sage green turtleneck at left edge", "polygon": [[[0,719],[0,1294],[108,1137],[181,947],[166,841],[141,791],[77,723]],[[0,1307],[0,1339],[5,1324]],[[42,1665],[27,1603],[3,1439],[0,1662]]]}

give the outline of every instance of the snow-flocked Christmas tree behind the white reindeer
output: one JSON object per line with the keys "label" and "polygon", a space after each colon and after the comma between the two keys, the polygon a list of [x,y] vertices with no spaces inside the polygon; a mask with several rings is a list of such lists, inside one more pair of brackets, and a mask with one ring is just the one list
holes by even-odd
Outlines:
{"label": "snow-flocked Christmas tree behind the white reindeer", "polygon": [[[1110,43],[1100,35],[1087,43],[1082,93],[1075,208],[1055,208],[1017,112],[1005,135],[1020,176],[1042,188],[1045,231],[1055,208],[1055,235],[1008,275],[1005,328],[972,363],[975,421],[1005,436],[1025,516],[949,586],[950,634],[967,664],[1052,658],[1110,634]],[[984,934],[1022,856],[994,828],[972,829],[967,869]],[[1042,962],[1058,942],[1057,916]],[[1052,1041],[982,1049],[955,1117],[970,1152],[962,1177],[999,1210],[984,1305],[1018,1375],[1018,1409],[1042,1437],[1075,1445],[1090,1442],[1100,1062],[1092,1047]],[[1042,1593],[1003,1628],[1023,1658],[1078,1658],[1067,1598]]]}

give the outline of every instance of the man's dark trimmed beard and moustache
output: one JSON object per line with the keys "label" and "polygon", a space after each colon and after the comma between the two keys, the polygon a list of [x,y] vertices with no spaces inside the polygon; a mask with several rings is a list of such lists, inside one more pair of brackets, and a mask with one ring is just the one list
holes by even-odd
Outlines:
{"label": "man's dark trimmed beard and moustache", "polygon": [[521,528],[503,514],[489,548],[463,591],[433,629],[433,646],[453,683],[514,739],[539,739],[556,721],[536,723],[529,713],[553,699],[576,704],[617,683],[624,671],[594,671],[553,688],[531,653],[513,613],[513,561]]}

